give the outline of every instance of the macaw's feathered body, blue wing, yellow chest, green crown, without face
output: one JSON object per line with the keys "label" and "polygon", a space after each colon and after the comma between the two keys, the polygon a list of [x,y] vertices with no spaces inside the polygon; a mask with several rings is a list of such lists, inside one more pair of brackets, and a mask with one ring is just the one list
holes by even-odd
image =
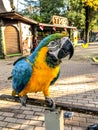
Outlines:
{"label": "macaw's feathered body, blue wing, yellow chest, green crown, without face", "polygon": [[59,77],[61,60],[48,54],[47,45],[62,37],[63,34],[47,36],[30,56],[14,63],[12,87],[16,94],[24,96],[27,93],[42,91],[45,97],[49,96],[49,86]]}

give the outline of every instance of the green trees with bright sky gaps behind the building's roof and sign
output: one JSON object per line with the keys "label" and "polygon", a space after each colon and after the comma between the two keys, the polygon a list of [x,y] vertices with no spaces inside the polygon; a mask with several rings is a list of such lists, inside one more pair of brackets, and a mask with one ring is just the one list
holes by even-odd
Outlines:
{"label": "green trees with bright sky gaps behind the building's roof and sign", "polygon": [[50,22],[53,15],[64,15],[66,8],[64,0],[24,0],[19,3],[25,7],[21,10],[23,15],[45,23]]}

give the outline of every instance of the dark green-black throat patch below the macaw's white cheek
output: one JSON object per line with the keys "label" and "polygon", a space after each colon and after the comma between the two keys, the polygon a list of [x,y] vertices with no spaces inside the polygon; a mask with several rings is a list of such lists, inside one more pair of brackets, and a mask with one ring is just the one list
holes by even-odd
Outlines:
{"label": "dark green-black throat patch below the macaw's white cheek", "polygon": [[61,63],[61,60],[56,59],[54,55],[47,53],[46,63],[48,66],[55,68],[57,65]]}

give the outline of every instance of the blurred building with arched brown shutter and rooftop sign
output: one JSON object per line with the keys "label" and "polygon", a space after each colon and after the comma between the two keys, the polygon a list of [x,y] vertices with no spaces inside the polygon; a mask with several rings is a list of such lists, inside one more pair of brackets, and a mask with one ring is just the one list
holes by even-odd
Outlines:
{"label": "blurred building with arched brown shutter and rooftop sign", "polygon": [[[5,3],[6,2],[6,3]],[[0,0],[0,57],[28,55],[35,48],[35,37],[39,42],[45,36],[55,33],[68,33],[66,18],[54,17],[54,23],[39,23],[15,11],[13,0]]]}

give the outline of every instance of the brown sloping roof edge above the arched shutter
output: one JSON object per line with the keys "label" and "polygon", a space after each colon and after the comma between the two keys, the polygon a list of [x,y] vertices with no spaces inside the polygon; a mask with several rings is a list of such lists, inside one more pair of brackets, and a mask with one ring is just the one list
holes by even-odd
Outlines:
{"label": "brown sloping roof edge above the arched shutter", "polygon": [[2,12],[2,13],[0,13],[0,18],[20,20],[20,21],[27,22],[29,24],[38,24],[37,21],[30,19],[30,18],[27,18],[16,11]]}

